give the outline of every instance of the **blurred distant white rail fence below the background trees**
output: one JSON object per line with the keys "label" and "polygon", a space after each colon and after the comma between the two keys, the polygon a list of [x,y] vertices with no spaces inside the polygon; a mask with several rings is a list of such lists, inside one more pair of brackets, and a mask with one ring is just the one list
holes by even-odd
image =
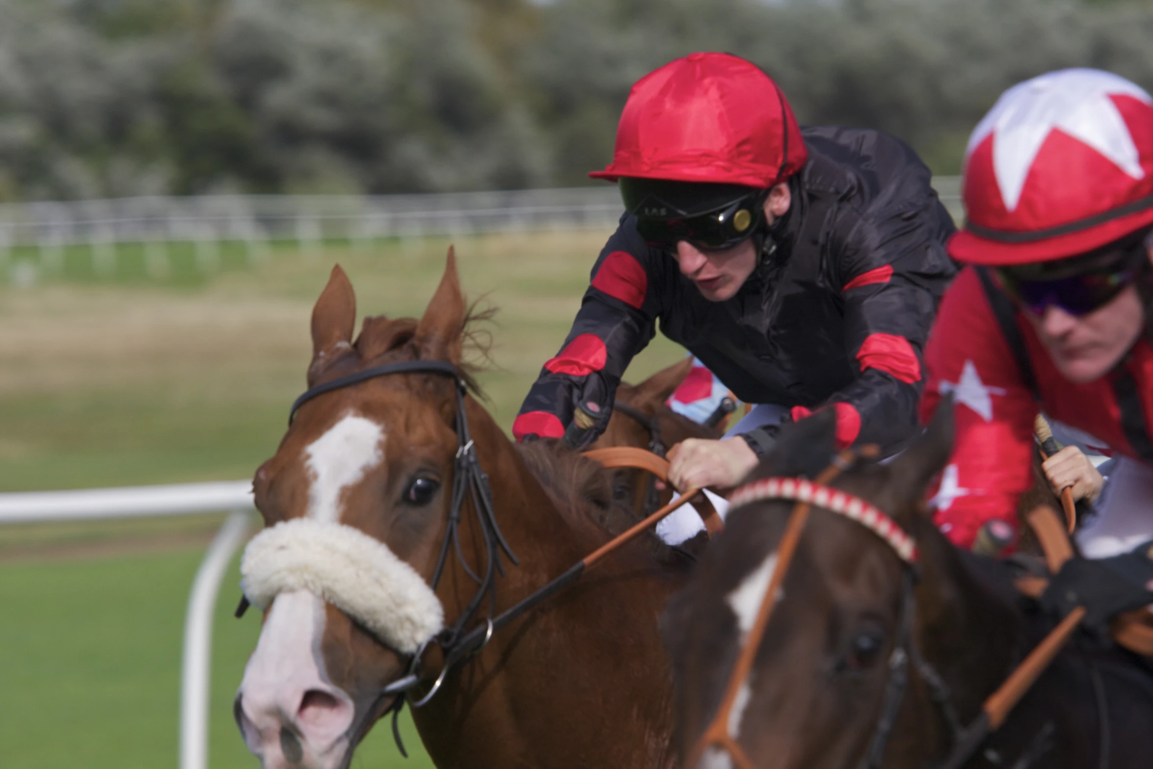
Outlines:
{"label": "blurred distant white rail fence below the background trees", "polygon": [[[933,184],[960,221],[957,176]],[[221,264],[221,244],[261,261],[270,243],[316,251],[324,241],[368,248],[379,239],[537,229],[609,229],[623,208],[610,184],[440,195],[205,195],[0,204],[0,278],[22,271],[62,272],[66,250],[80,249],[92,272],[116,273],[120,261],[143,258],[155,277],[169,273],[174,254],[190,254],[199,272]],[[120,248],[125,247],[125,248]],[[33,263],[35,256],[35,263]]]}

